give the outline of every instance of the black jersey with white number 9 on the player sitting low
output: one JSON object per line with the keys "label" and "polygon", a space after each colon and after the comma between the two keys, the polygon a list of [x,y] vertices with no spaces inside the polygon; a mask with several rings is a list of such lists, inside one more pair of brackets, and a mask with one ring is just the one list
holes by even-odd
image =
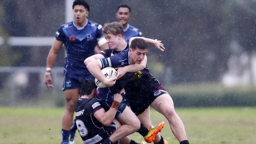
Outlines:
{"label": "black jersey with white number 9 on the player sitting low", "polygon": [[113,124],[106,127],[94,117],[93,114],[101,108],[95,98],[79,98],[76,103],[76,126],[84,144],[99,144],[117,128]]}

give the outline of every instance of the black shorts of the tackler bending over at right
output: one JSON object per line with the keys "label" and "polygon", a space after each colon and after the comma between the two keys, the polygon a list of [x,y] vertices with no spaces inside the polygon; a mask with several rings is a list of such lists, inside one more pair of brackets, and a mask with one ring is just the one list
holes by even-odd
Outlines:
{"label": "black shorts of the tackler bending over at right", "polygon": [[162,85],[157,85],[152,89],[148,89],[143,92],[126,92],[126,100],[128,101],[132,111],[139,115],[148,108],[148,106],[154,102],[154,100],[161,96],[162,94],[167,94],[168,92],[162,87]]}

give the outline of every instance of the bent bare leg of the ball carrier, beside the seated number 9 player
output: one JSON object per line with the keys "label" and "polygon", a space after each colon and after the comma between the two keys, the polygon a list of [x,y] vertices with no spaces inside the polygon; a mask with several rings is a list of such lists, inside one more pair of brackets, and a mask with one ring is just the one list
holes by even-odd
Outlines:
{"label": "bent bare leg of the ball carrier, beside the seated number 9 player", "polygon": [[117,142],[121,138],[124,138],[132,133],[135,133],[140,128],[140,121],[137,116],[132,112],[129,107],[126,107],[118,118],[122,126],[109,137],[111,142]]}

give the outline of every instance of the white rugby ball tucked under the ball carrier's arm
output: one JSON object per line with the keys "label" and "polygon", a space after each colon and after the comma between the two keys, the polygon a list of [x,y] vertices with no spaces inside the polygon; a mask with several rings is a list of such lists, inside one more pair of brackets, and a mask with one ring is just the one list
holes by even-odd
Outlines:
{"label": "white rugby ball tucked under the ball carrier's arm", "polygon": [[[117,71],[115,70],[115,68],[112,68],[112,67],[103,68],[101,70],[101,72],[105,76],[106,79],[111,79],[111,78],[116,78],[117,77]],[[107,87],[106,85],[104,85],[97,78],[95,78],[95,84],[96,84],[97,87],[100,87],[100,88]]]}

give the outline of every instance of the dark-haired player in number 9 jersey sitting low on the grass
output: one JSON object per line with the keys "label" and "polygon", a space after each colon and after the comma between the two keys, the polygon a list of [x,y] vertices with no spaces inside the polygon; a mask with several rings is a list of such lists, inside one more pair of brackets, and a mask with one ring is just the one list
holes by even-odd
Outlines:
{"label": "dark-haired player in number 9 jersey sitting low on the grass", "polygon": [[[114,119],[119,104],[122,101],[121,94],[114,95],[112,107],[105,111],[95,98],[96,85],[93,79],[85,79],[82,82],[80,94],[75,107],[76,125],[84,144],[100,144],[109,138],[117,141],[117,137],[111,134],[121,124]],[[138,144],[128,137],[121,139],[122,144]],[[146,142],[141,142],[146,144]]]}

